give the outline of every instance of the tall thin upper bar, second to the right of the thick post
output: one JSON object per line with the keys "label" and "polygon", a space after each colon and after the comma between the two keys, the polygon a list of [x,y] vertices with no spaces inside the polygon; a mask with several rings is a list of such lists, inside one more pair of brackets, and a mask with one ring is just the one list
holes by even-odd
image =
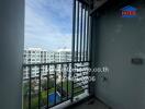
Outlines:
{"label": "tall thin upper bar, second to the right of the thick post", "polygon": [[83,13],[83,11],[82,11],[82,3],[81,3],[81,19],[80,19],[80,51],[79,51],[79,53],[80,53],[80,56],[79,56],[79,61],[81,61],[81,46],[82,46],[82,13]]}

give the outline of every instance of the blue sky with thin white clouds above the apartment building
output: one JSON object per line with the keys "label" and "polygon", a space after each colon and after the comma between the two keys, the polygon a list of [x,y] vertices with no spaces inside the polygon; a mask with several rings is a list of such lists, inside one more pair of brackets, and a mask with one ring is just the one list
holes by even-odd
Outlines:
{"label": "blue sky with thin white clouds above the apartment building", "polygon": [[25,47],[71,47],[72,0],[25,0]]}

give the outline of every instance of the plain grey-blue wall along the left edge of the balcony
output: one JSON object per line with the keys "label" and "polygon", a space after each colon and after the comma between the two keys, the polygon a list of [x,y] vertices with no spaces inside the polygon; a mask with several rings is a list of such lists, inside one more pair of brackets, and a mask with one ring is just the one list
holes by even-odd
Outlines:
{"label": "plain grey-blue wall along the left edge of the balcony", "polygon": [[0,0],[0,109],[22,109],[24,0]]}

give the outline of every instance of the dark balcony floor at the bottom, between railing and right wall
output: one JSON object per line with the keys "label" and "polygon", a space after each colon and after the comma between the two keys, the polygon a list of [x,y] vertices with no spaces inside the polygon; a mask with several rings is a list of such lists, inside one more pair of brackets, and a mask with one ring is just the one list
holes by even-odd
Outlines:
{"label": "dark balcony floor at the bottom, between railing and right wall", "polygon": [[105,105],[96,99],[91,99],[85,104],[78,105],[71,109],[109,109]]}

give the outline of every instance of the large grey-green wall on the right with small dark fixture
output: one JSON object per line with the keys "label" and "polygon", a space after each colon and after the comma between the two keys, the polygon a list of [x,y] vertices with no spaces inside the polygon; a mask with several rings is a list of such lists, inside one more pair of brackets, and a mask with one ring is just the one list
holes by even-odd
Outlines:
{"label": "large grey-green wall on the right with small dark fixture", "polygon": [[[137,17],[120,16],[126,4],[107,4],[93,14],[92,64],[110,69],[96,73],[94,95],[112,109],[145,109],[145,2],[127,4],[140,7]],[[136,57],[144,64],[132,64]]]}

